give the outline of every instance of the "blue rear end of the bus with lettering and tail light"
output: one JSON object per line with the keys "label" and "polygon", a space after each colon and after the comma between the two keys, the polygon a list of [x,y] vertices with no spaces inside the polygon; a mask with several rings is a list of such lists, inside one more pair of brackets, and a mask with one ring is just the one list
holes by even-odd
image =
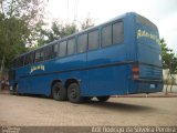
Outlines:
{"label": "blue rear end of the bus with lettering and tail light", "polygon": [[133,64],[135,93],[163,90],[163,71],[158,30],[146,18],[136,14],[136,60]]}

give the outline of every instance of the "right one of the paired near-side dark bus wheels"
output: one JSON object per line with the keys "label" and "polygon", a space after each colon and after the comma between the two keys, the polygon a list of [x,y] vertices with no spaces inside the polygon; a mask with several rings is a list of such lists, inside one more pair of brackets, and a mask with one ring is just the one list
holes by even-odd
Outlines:
{"label": "right one of the paired near-side dark bus wheels", "polygon": [[83,98],[80,96],[80,86],[77,83],[71,83],[67,88],[67,98],[72,103],[83,102]]}

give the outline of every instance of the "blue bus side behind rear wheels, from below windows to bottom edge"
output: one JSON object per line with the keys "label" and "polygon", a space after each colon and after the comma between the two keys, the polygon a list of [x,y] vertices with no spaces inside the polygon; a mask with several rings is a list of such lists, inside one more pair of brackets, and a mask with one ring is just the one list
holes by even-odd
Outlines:
{"label": "blue bus side behind rear wheels, from below windows to bottom edge", "polygon": [[87,52],[88,95],[127,93],[125,44]]}

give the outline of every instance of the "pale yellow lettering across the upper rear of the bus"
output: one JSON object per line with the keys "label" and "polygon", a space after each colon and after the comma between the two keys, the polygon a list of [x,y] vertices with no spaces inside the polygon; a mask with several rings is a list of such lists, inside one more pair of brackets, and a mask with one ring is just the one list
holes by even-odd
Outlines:
{"label": "pale yellow lettering across the upper rear of the bus", "polygon": [[142,38],[142,37],[149,38],[149,39],[156,41],[157,44],[160,44],[160,41],[159,41],[159,39],[158,39],[157,35],[152,34],[152,33],[148,33],[148,32],[145,31],[145,30],[138,30],[138,31],[137,31],[137,39],[139,39],[139,38]]}

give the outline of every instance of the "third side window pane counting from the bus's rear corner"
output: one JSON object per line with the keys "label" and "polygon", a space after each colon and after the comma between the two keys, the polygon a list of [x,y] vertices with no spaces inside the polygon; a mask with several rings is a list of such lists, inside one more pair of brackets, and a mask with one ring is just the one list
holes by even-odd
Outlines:
{"label": "third side window pane counting from the bus's rear corner", "polygon": [[88,50],[98,48],[98,30],[88,33]]}

